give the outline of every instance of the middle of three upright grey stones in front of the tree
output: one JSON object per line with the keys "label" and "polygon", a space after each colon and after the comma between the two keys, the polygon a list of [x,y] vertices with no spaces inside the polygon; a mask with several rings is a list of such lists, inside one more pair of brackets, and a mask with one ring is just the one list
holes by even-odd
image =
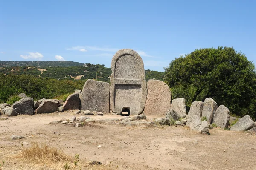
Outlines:
{"label": "middle of three upright grey stones in front of the tree", "polygon": [[212,124],[214,113],[217,108],[218,108],[218,105],[212,98],[206,98],[204,100],[202,117],[205,116],[207,118],[208,124]]}

